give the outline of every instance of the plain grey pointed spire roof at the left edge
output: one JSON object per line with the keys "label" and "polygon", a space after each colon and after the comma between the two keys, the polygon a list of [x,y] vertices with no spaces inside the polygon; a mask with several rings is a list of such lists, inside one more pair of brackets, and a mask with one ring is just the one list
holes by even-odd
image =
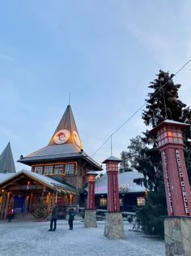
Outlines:
{"label": "plain grey pointed spire roof at the left edge", "polygon": [[15,163],[13,159],[13,154],[11,151],[10,142],[6,145],[5,150],[2,151],[0,155],[0,173],[15,173]]}

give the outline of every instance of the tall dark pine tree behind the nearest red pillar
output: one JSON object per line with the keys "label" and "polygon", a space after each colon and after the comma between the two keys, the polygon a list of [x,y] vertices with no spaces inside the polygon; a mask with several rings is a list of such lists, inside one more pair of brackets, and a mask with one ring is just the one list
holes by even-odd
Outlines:
{"label": "tall dark pine tree behind the nearest red pillar", "polygon": [[[154,128],[165,119],[191,124],[191,111],[178,96],[181,85],[175,85],[172,80],[173,74],[159,71],[157,78],[150,83],[149,88],[154,90],[148,93],[146,110],[142,113],[142,119],[147,126]],[[146,206],[138,211],[138,218],[142,223],[144,232],[163,235],[163,219],[161,215],[167,215],[167,203],[163,183],[163,168],[159,150],[156,149],[156,137],[148,130],[143,132],[142,138],[150,149],[143,149],[138,158],[138,171],[144,178],[138,179],[138,184],[145,184],[149,189],[146,196]],[[190,129],[184,131],[185,138],[185,162],[188,174],[191,178],[191,146],[188,139],[191,138]],[[152,147],[152,148],[151,148]]]}

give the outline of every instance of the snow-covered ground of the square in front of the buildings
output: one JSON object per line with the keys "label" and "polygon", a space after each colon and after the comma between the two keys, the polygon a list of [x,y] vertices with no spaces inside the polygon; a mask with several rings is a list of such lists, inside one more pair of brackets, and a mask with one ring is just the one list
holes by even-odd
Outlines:
{"label": "snow-covered ground of the square in front of the buildings", "polygon": [[128,222],[124,222],[125,240],[108,240],[104,221],[97,224],[98,228],[84,228],[75,220],[71,231],[66,220],[58,220],[56,232],[49,232],[49,222],[0,221],[0,255],[165,255],[163,241],[129,231]]}

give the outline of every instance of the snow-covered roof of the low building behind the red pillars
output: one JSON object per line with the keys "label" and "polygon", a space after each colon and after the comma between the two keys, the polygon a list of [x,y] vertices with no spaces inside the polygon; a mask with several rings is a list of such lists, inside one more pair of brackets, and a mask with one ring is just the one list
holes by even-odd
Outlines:
{"label": "snow-covered roof of the low building behind the red pillars", "polygon": [[[118,184],[128,185],[128,193],[140,193],[145,191],[145,187],[134,183],[134,179],[143,178],[142,173],[138,171],[125,171],[118,174]],[[96,180],[95,184],[96,194],[108,193],[108,176],[105,174],[100,179]]]}

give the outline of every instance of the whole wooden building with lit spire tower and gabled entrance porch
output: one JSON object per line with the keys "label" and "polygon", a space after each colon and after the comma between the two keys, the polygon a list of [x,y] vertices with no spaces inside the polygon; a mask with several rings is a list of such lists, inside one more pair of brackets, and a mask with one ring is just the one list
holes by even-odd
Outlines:
{"label": "whole wooden building with lit spire tower and gabled entrance porch", "polygon": [[[31,171],[19,171],[0,176],[0,216],[6,218],[7,208],[28,213],[41,197],[51,209],[57,201],[59,207],[84,206],[86,174],[93,169],[101,171],[84,150],[74,121],[71,106],[67,106],[49,144],[27,156],[21,155],[19,163],[31,167]],[[1,166],[0,166],[1,173]]]}

